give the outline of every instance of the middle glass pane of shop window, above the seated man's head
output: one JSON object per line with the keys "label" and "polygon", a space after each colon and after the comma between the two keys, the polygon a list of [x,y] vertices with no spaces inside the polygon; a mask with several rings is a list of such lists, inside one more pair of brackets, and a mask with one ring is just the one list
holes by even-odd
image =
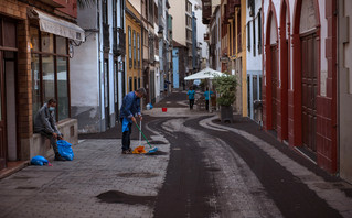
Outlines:
{"label": "middle glass pane of shop window, above the seated man's head", "polygon": [[55,77],[54,77],[54,57],[52,55],[43,55],[43,99],[46,102],[51,98],[55,98]]}

